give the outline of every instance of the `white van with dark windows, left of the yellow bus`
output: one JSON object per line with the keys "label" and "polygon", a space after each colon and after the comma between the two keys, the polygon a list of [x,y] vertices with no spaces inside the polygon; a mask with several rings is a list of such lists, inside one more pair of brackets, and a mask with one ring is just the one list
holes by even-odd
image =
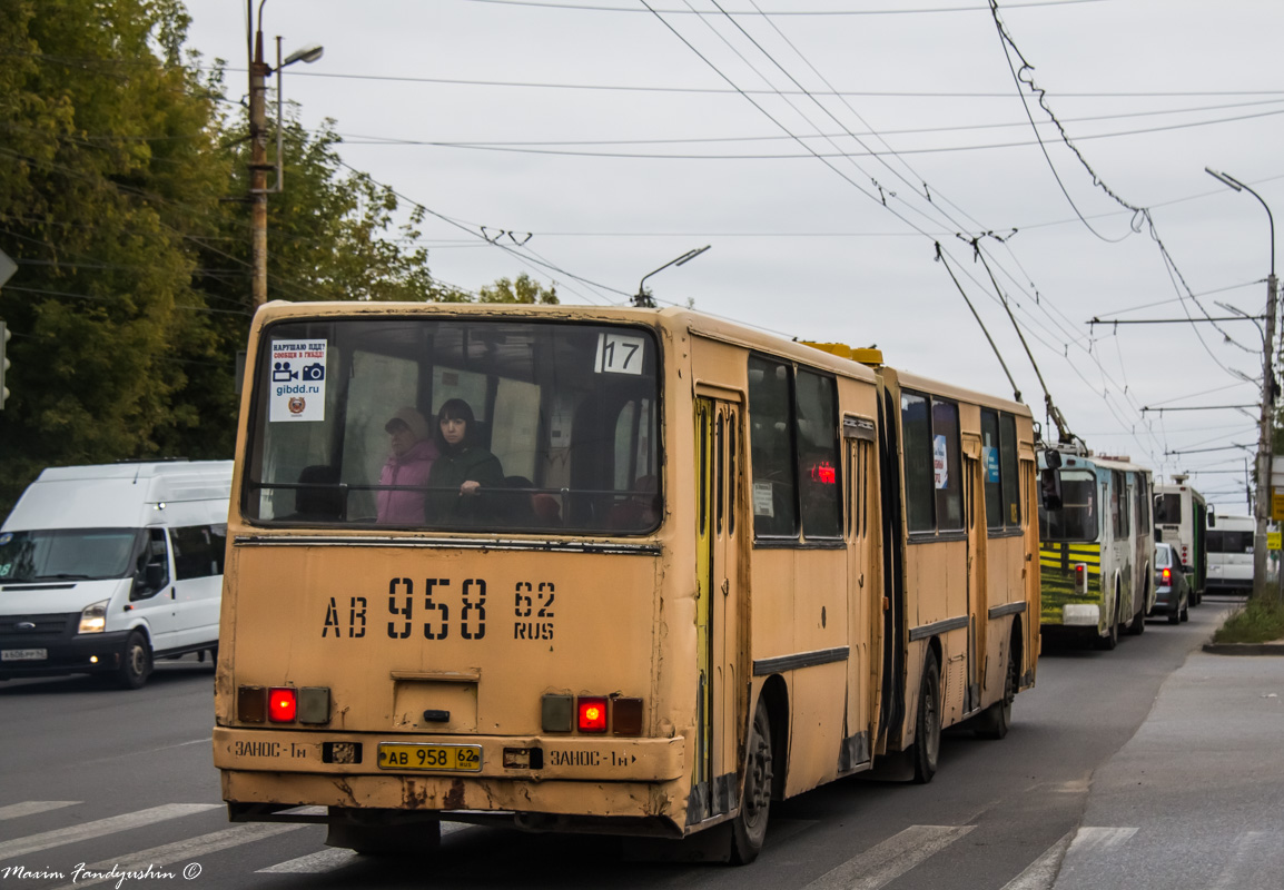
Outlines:
{"label": "white van with dark windows, left of the yellow bus", "polygon": [[0,527],[0,679],[218,649],[231,461],[48,469]]}

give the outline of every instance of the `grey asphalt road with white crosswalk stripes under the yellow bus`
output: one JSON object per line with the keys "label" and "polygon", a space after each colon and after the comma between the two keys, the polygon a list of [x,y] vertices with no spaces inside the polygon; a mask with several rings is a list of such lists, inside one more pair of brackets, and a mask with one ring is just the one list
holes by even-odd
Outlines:
{"label": "grey asphalt road with white crosswalk stripes under the yellow bus", "polygon": [[[0,685],[0,885],[117,886],[100,876],[150,864],[159,877],[119,886],[1046,889],[1075,831],[1097,825],[1085,821],[1094,774],[1109,765],[1117,787],[1120,769],[1143,768],[1113,758],[1224,609],[1206,600],[1189,623],[1152,622],[1113,652],[1045,643],[1005,740],[946,733],[931,785],[856,778],[777,804],[767,849],[746,868],[681,862],[674,845],[456,825],[434,859],[388,862],[326,848],[320,826],[232,826],[211,765],[208,663],[162,663],[135,692],[10,681]],[[1198,825],[1199,798],[1181,801],[1185,825]],[[1111,831],[1127,831],[1107,812]]]}

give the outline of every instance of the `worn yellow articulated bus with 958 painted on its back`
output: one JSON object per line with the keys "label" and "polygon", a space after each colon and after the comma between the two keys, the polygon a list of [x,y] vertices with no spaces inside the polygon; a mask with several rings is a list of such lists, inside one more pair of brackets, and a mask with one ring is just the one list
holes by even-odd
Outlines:
{"label": "worn yellow articulated bus with 958 painted on its back", "polygon": [[1023,405],[681,310],[272,303],[247,380],[235,821],[713,828],[743,863],[773,800],[928,781],[1034,683]]}

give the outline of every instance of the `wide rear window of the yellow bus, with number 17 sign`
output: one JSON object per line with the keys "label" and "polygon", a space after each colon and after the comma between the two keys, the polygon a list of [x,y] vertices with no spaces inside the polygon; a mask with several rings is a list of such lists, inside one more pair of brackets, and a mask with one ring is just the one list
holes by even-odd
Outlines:
{"label": "wide rear window of the yellow bus, with number 17 sign", "polygon": [[241,507],[272,525],[641,534],[659,344],[538,321],[282,322],[261,340]]}

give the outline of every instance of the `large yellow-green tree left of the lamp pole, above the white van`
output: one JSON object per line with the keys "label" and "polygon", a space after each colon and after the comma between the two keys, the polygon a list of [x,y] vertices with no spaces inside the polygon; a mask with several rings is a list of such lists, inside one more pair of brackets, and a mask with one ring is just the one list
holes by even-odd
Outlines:
{"label": "large yellow-green tree left of the lamp pole, above the white van", "polygon": [[213,96],[157,55],[186,27],[180,3],[4,6],[0,239],[19,272],[0,292],[0,506],[42,466],[155,453],[187,356],[209,347],[191,244],[217,234],[229,176]]}

